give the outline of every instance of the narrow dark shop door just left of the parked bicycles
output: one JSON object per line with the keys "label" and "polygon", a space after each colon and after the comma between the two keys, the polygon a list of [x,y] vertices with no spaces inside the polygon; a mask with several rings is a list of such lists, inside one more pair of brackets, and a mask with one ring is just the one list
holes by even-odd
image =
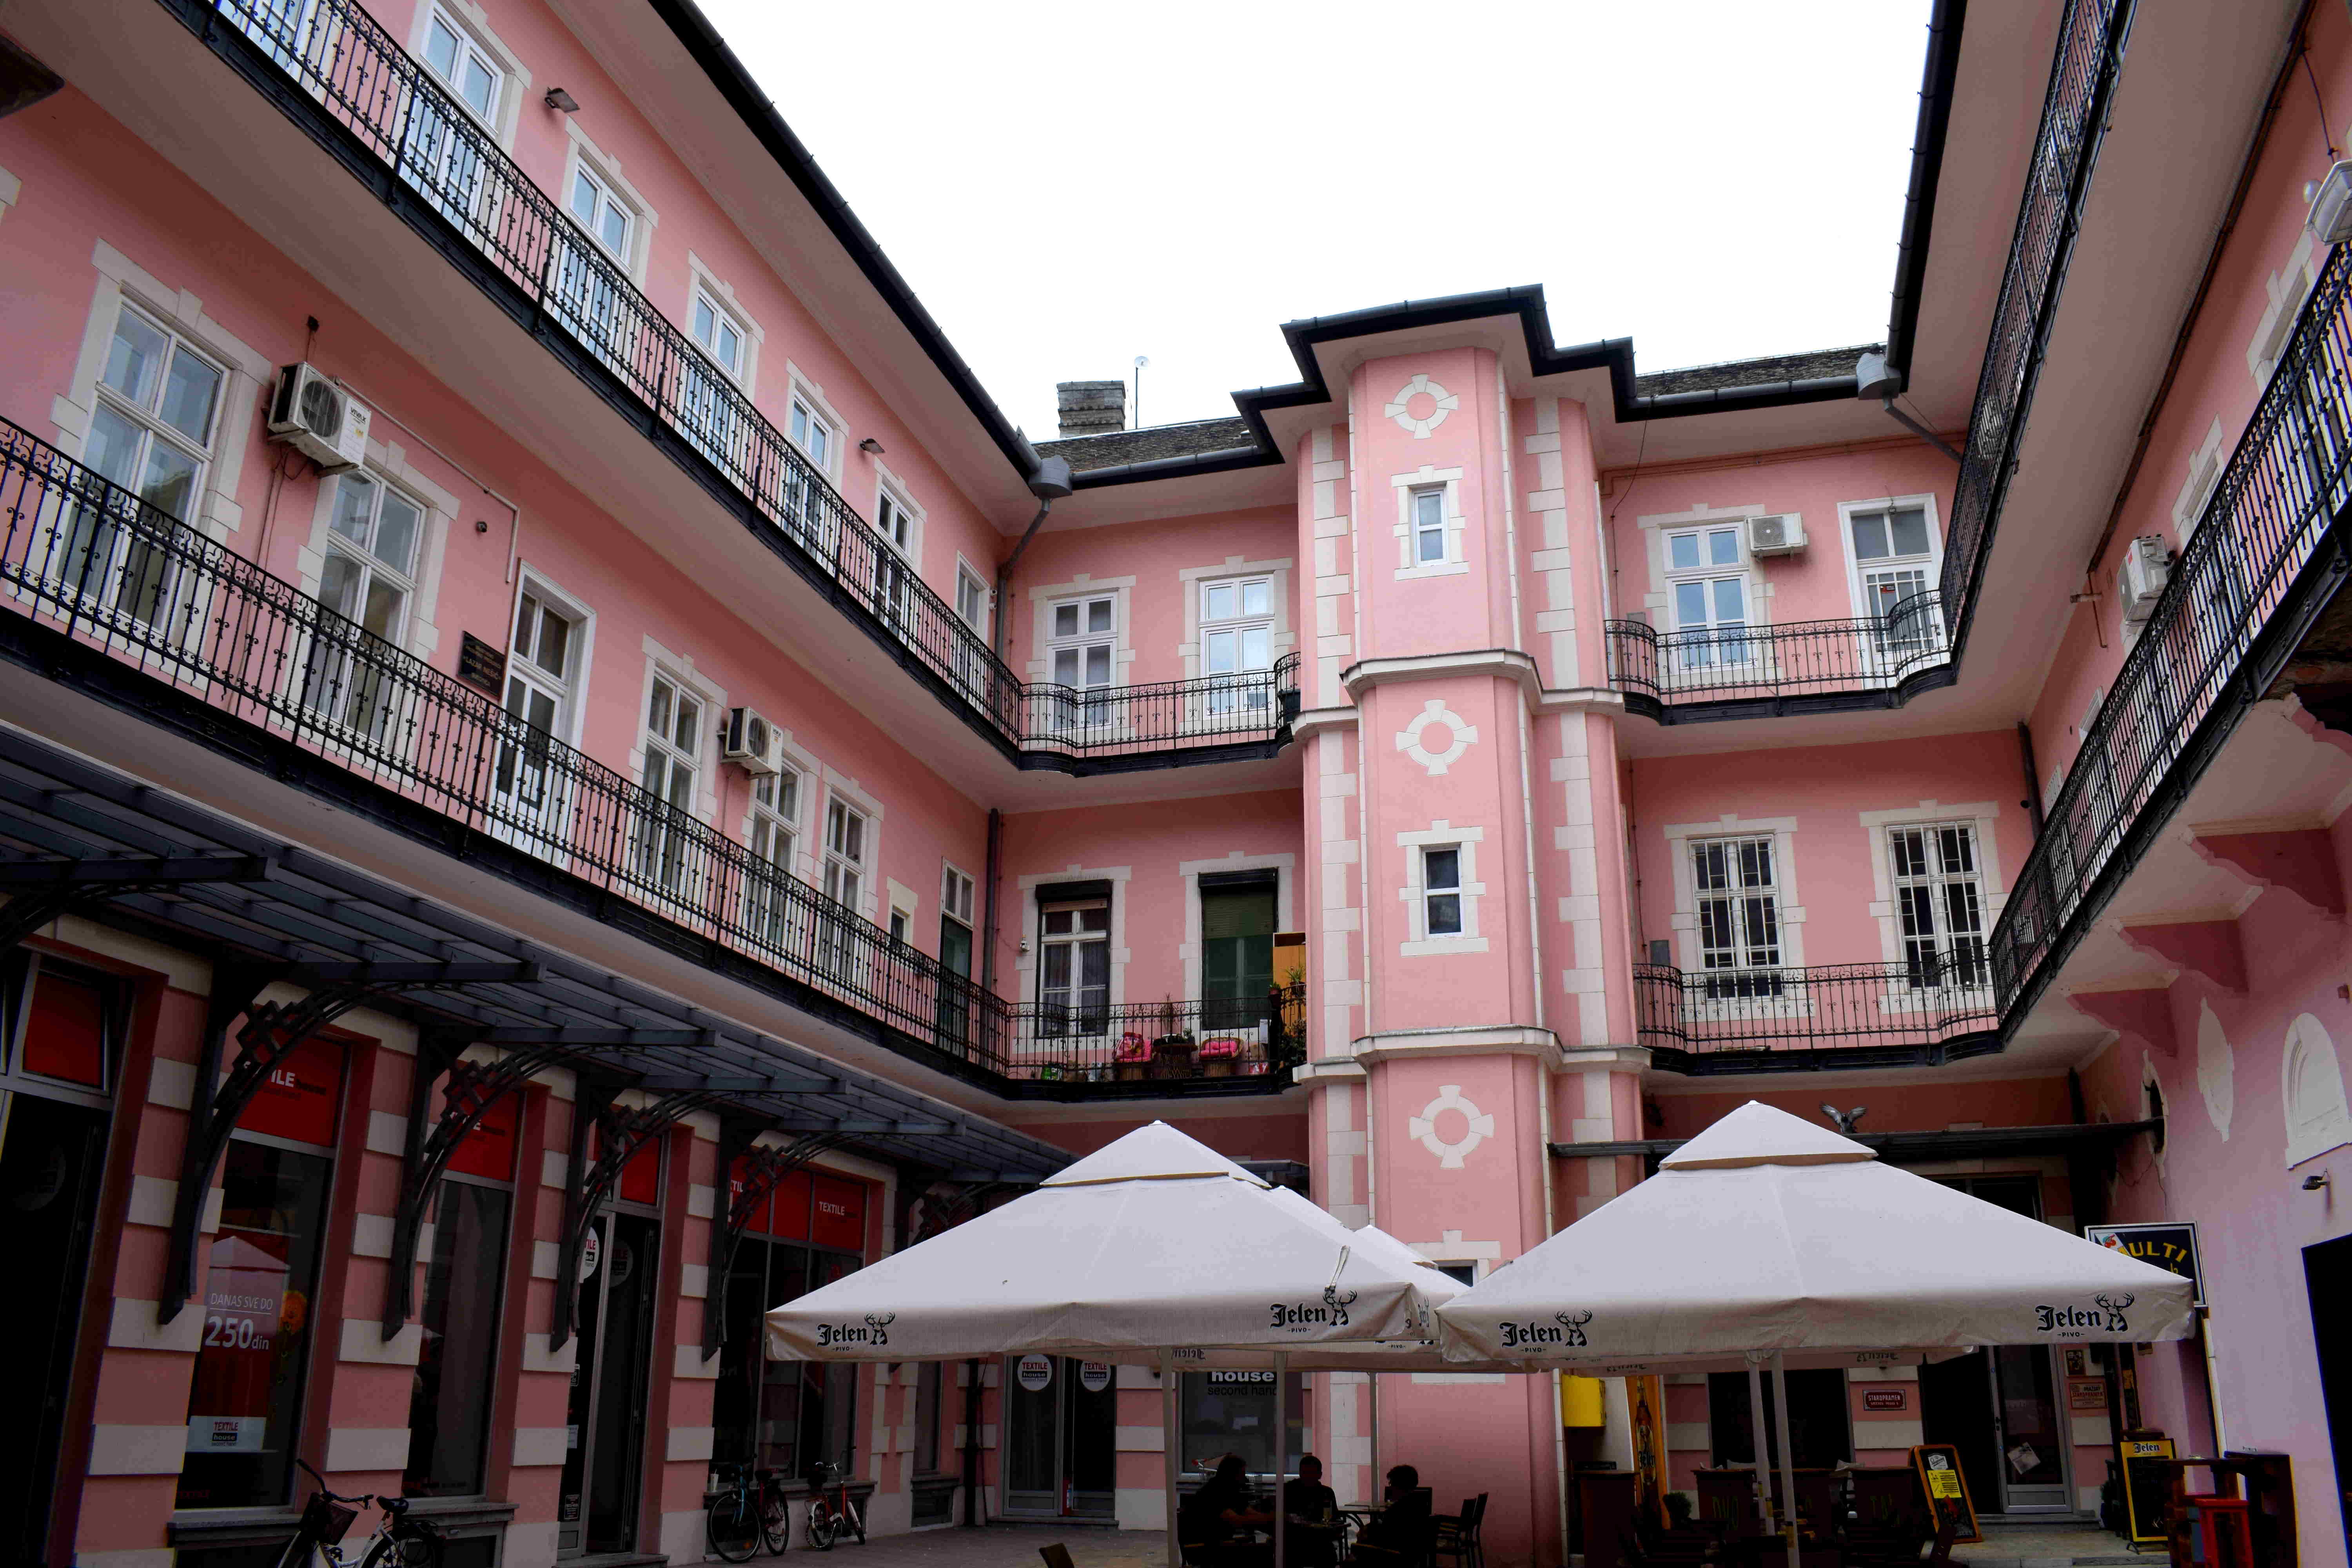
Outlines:
{"label": "narrow dark shop door just left of the parked bicycles", "polygon": [[555,1537],[567,1556],[637,1549],[654,1281],[661,1279],[656,1220],[607,1213],[588,1234],[593,1253],[581,1258],[579,1363]]}

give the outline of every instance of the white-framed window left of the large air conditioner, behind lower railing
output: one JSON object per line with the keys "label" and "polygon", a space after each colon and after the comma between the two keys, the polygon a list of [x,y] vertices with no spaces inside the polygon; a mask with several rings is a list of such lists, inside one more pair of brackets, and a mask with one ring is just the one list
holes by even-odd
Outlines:
{"label": "white-framed window left of the large air conditioner, behind lower railing", "polygon": [[[158,512],[191,522],[205,494],[226,386],[219,362],[125,301],[92,393],[82,461]],[[47,548],[47,569],[68,592],[146,625],[176,618],[181,588],[172,557],[122,527],[118,510],[64,508]]]}

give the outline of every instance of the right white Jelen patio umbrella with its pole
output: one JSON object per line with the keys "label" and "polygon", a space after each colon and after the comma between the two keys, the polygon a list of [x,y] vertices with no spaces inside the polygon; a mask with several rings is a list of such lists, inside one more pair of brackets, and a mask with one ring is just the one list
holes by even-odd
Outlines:
{"label": "right white Jelen patio umbrella with its pole", "polygon": [[1759,1476],[1757,1363],[1769,1354],[1795,1516],[1792,1361],[2178,1340],[2192,1328],[2190,1295],[2178,1274],[1879,1164],[1851,1138],[1750,1100],[1437,1319],[1446,1356],[1576,1373],[1661,1361],[1693,1371],[1745,1352]]}

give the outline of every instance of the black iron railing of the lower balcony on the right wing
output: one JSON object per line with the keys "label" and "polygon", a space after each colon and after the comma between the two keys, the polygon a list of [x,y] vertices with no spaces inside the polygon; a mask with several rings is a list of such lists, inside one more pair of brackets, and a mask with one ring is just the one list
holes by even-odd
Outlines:
{"label": "black iron railing of the lower balcony on the right wing", "polygon": [[2058,961],[2352,569],[2352,247],[2336,247],[1992,931],[2004,1016]]}

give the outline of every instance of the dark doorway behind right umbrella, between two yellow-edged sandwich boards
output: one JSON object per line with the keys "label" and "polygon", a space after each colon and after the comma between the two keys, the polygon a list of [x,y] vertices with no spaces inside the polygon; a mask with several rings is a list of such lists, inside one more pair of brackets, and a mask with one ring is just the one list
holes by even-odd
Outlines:
{"label": "dark doorway behind right umbrella, between two yellow-edged sandwich boards", "polygon": [[[1969,1197],[2042,1218],[2042,1178],[1938,1178]],[[1992,1345],[1919,1368],[1919,1422],[1929,1443],[1959,1448],[1969,1495],[1983,1514],[2072,1509],[2058,1363],[2049,1345]]]}

